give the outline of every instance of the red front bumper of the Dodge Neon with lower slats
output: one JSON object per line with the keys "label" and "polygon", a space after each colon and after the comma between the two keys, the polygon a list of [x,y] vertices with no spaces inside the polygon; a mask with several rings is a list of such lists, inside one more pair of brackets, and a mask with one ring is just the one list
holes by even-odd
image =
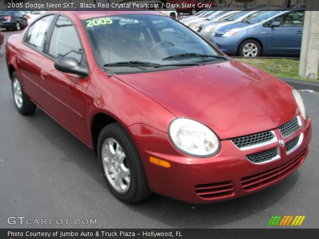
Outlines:
{"label": "red front bumper of the Dodge Neon with lower slats", "polygon": [[[286,154],[278,141],[262,147],[239,150],[231,140],[221,141],[221,150],[210,158],[192,158],[178,152],[167,133],[144,124],[129,127],[139,149],[150,188],[161,195],[180,201],[203,204],[245,196],[272,186],[295,171],[305,160],[312,136],[311,119],[302,120],[302,127],[285,138],[287,143],[303,133],[297,149]],[[278,139],[279,129],[273,129]],[[280,158],[254,164],[246,155],[280,148]],[[152,164],[149,157],[157,157],[170,163],[170,168]]]}

